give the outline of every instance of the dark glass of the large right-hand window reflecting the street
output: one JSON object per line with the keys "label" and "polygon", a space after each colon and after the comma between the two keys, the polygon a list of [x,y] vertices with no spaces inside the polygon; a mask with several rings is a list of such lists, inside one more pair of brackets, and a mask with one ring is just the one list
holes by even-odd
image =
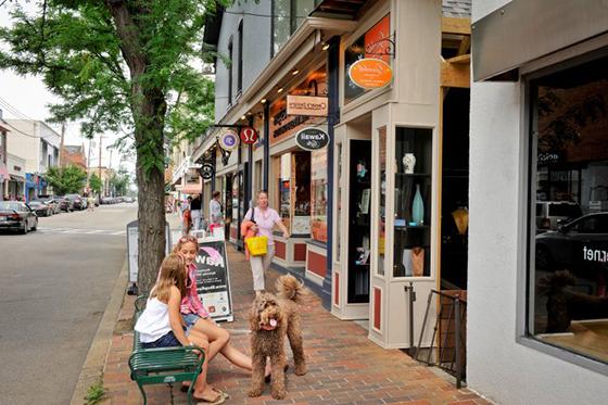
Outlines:
{"label": "dark glass of the large right-hand window reflecting the street", "polygon": [[530,81],[529,333],[608,363],[608,58]]}

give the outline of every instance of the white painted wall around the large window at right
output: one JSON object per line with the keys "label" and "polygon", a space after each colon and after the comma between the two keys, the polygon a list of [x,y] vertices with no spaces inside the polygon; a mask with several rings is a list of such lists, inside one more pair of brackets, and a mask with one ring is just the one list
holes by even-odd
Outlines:
{"label": "white painted wall around the large window at right", "polygon": [[499,404],[606,404],[606,376],[516,342],[520,100],[519,83],[471,86],[467,382]]}

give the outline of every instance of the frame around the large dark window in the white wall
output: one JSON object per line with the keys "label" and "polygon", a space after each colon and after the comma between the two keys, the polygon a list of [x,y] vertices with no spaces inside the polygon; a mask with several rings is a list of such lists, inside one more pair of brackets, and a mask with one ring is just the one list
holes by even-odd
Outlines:
{"label": "frame around the large dark window in the white wall", "polygon": [[521,124],[519,129],[519,155],[523,156],[519,167],[518,187],[518,246],[517,250],[517,308],[516,342],[537,352],[550,355],[570,364],[608,376],[608,363],[587,357],[584,354],[553,345],[534,337],[531,322],[534,322],[534,302],[531,280],[534,278],[535,262],[535,203],[536,203],[536,144],[534,130],[534,81],[542,77],[563,72],[586,62],[593,62],[608,55],[608,43],[600,49],[588,49],[580,45],[557,55],[537,61],[530,66],[522,66],[520,76]]}

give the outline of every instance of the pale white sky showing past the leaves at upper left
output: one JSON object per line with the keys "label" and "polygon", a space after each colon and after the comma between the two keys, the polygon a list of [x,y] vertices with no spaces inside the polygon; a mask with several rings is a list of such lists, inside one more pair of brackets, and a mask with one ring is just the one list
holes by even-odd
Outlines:
{"label": "pale white sky showing past the leaves at upper left", "polygon": [[[0,1],[1,3],[1,1]],[[26,10],[35,10],[34,2],[20,1]],[[9,26],[11,24],[9,10],[12,8],[10,3],[0,7],[0,25]],[[35,76],[22,77],[15,75],[12,71],[0,71],[0,109],[4,118],[23,118],[23,116],[37,119],[47,121],[50,117],[48,104],[58,102],[59,99],[54,97],[45,86],[42,80]],[[13,110],[16,112],[11,112]],[[21,115],[21,116],[20,116]],[[50,124],[58,134],[61,134],[60,124]],[[88,152],[89,142],[80,137],[79,123],[68,123],[65,131],[64,144],[85,144],[85,151]],[[124,159],[117,151],[113,151],[112,161],[110,161],[110,151],[106,145],[112,144],[119,135],[103,134],[101,163],[102,166],[110,166],[118,168],[123,165],[129,172],[135,172],[135,163],[132,159]],[[9,138],[10,142],[10,138]],[[91,162],[90,166],[99,165],[99,135],[96,136],[91,144]]]}

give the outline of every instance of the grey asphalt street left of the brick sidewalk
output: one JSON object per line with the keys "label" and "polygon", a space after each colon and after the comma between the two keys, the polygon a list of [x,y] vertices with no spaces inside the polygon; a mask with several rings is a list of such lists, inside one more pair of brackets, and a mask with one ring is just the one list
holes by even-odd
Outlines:
{"label": "grey asphalt street left of the brick sidewalk", "polygon": [[0,233],[0,403],[69,403],[136,217],[136,204],[102,205]]}

